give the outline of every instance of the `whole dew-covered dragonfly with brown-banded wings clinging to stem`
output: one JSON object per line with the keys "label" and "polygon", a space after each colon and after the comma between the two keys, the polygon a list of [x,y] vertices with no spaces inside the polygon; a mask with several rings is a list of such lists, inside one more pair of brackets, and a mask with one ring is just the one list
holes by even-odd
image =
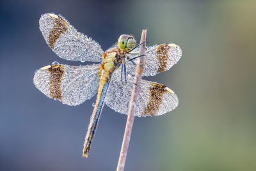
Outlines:
{"label": "whole dew-covered dragonfly with brown-banded wings clinging to stem", "polygon": [[[121,114],[128,112],[140,44],[136,45],[134,36],[122,34],[117,43],[104,52],[99,43],[54,13],[41,15],[39,25],[45,41],[59,57],[70,61],[97,62],[82,66],[53,62],[36,70],[33,78],[37,89],[66,105],[79,105],[97,94],[84,140],[83,157],[87,158],[104,105]],[[181,56],[181,48],[174,43],[147,47],[142,76],[169,70]],[[172,89],[157,82],[141,80],[134,115],[163,115],[178,104]]]}

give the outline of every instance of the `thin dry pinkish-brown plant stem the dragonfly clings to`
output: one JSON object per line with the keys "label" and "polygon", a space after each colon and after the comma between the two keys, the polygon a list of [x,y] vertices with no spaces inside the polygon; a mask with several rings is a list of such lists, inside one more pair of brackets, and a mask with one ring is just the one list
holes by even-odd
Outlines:
{"label": "thin dry pinkish-brown plant stem the dragonfly clings to", "polygon": [[[146,36],[147,36],[147,29],[143,29],[141,33],[140,43],[146,41]],[[146,51],[145,44],[146,43],[143,43],[142,45],[140,45],[139,56],[145,54],[145,51]],[[145,61],[144,57],[140,57],[139,63],[136,66],[135,75],[134,75],[134,85],[132,88],[131,99],[129,102],[129,110],[127,114],[127,122],[125,126],[125,131],[124,131],[124,139],[123,139],[122,148],[120,151],[120,156],[119,156],[116,171],[124,170],[125,160],[128,152],[131,133],[132,133],[132,126],[134,121],[134,108],[136,108],[138,86],[140,85],[140,81],[143,73],[144,61]]]}

